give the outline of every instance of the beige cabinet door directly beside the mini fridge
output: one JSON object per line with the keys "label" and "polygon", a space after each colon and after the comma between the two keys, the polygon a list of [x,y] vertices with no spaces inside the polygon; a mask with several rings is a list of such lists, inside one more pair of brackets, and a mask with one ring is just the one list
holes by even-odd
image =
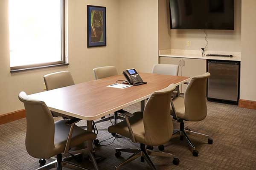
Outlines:
{"label": "beige cabinet door directly beside the mini fridge", "polygon": [[[182,58],[182,76],[193,77],[206,72],[206,59]],[[182,85],[182,93],[185,93],[187,85]]]}

